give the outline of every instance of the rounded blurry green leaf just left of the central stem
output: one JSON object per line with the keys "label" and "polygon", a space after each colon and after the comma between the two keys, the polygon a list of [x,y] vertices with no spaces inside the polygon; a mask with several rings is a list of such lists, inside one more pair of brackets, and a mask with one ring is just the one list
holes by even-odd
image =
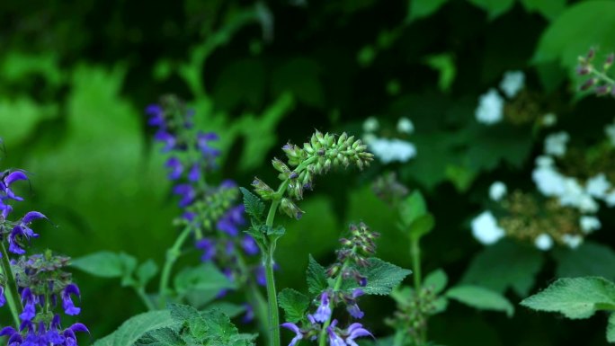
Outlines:
{"label": "rounded blurry green leaf just left of the central stem", "polygon": [[212,263],[186,268],[174,278],[174,287],[180,297],[185,297],[192,306],[201,307],[215,298],[221,289],[236,288]]}

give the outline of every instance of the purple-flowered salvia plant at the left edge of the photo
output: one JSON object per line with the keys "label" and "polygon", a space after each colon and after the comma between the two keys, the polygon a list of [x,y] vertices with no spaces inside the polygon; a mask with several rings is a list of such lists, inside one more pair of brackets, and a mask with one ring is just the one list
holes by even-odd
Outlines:
{"label": "purple-flowered salvia plant at the left edge of the photo", "polygon": [[45,215],[29,211],[14,217],[13,202],[23,200],[15,186],[27,181],[22,170],[5,170],[0,177],[0,306],[13,316],[0,336],[9,346],[76,346],[76,333],[89,332],[85,324],[67,324],[81,312],[73,300],[81,292],[64,271],[70,259],[50,250],[29,253],[31,241],[40,236],[32,224]]}

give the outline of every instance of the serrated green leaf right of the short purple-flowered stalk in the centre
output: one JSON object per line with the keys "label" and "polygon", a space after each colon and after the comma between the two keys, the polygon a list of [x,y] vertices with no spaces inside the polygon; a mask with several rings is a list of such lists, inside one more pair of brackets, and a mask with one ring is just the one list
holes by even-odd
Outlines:
{"label": "serrated green leaf right of the short purple-flowered stalk in the centre", "polygon": [[370,266],[361,268],[361,275],[367,278],[367,285],[360,287],[355,280],[346,280],[343,289],[361,288],[365,294],[388,296],[392,289],[410,275],[412,271],[397,267],[395,264],[384,262],[378,258],[370,258]]}

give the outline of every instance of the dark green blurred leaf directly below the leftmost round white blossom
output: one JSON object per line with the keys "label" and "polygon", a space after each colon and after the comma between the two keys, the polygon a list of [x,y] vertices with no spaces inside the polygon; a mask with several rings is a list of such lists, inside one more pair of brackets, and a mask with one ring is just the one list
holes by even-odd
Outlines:
{"label": "dark green blurred leaf directly below the leftmost round white blossom", "polygon": [[512,288],[519,296],[527,297],[543,262],[542,253],[533,247],[500,241],[474,257],[461,283],[503,294]]}

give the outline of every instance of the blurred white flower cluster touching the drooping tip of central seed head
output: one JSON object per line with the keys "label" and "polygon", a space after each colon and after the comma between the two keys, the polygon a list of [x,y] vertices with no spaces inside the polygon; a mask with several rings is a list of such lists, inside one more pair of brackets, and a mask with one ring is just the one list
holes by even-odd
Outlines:
{"label": "blurred white flower cluster touching the drooping tip of central seed head", "polygon": [[[370,152],[379,158],[383,164],[394,162],[405,163],[416,156],[416,146],[413,143],[399,138],[379,138],[374,134],[380,124],[378,119],[370,117],[363,122],[363,141],[370,147]],[[410,135],[414,132],[414,124],[407,118],[400,118],[397,122],[397,131]]]}

